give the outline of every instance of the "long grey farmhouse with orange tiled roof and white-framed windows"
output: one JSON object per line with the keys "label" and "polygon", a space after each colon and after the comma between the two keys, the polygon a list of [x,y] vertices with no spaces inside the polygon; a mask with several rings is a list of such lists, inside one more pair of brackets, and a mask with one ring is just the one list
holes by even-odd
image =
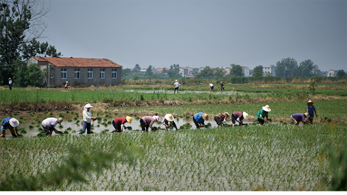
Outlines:
{"label": "long grey farmhouse with orange tiled roof and white-framed windows", "polygon": [[44,82],[48,87],[58,84],[117,85],[121,83],[121,66],[103,58],[30,57],[26,64],[38,63],[47,70]]}

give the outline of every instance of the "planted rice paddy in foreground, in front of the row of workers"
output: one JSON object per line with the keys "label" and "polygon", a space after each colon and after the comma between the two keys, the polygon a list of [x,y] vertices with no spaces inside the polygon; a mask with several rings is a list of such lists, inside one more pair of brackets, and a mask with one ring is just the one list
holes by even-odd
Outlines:
{"label": "planted rice paddy in foreground, in front of the row of workers", "polygon": [[[110,166],[87,176],[86,182],[65,181],[43,190],[323,191],[331,190],[333,173],[322,151],[329,146],[329,151],[340,152],[346,138],[345,125],[317,124],[2,139],[0,178],[7,181],[18,173],[35,176],[56,166],[68,169],[66,155],[71,153],[71,144],[107,152],[117,143],[122,146],[118,151],[137,148],[143,155],[132,153],[128,156],[132,163],[127,163],[121,160],[122,153],[114,153]],[[93,162],[86,161],[86,165],[93,166]],[[95,161],[95,165],[105,163]]]}

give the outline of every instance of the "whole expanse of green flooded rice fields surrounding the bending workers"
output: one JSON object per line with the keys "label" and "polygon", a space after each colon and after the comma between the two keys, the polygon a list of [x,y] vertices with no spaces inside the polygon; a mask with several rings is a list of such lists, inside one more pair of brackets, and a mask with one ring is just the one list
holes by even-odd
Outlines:
{"label": "whole expanse of green flooded rice fields surrounding the bending workers", "polygon": [[[213,93],[208,86],[183,86],[179,94],[165,85],[0,90],[1,119],[17,118],[23,135],[12,139],[7,131],[7,138],[0,139],[0,190],[347,190],[345,83],[318,84],[315,94],[307,84],[225,86],[223,93],[218,86]],[[294,126],[290,115],[306,112],[309,99],[317,109],[315,123]],[[95,106],[91,111],[98,120],[95,134],[79,136],[85,102]],[[9,109],[53,103],[62,106],[41,113]],[[67,103],[78,107],[63,109]],[[272,120],[257,125],[256,113],[265,105]],[[215,114],[235,111],[249,113],[248,125],[187,125],[198,112],[209,114],[214,123]],[[166,113],[175,116],[178,131],[139,130],[140,117],[158,114],[162,119]],[[132,130],[110,133],[111,120],[126,115],[133,117],[132,124],[126,123]],[[36,136],[44,118],[62,116],[57,129],[64,133]]]}

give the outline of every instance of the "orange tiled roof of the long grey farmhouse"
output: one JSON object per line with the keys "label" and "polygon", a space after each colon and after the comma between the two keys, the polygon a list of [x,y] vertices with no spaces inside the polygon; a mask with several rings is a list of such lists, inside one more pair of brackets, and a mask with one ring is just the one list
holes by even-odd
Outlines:
{"label": "orange tiled roof of the long grey farmhouse", "polygon": [[34,57],[39,61],[48,61],[57,67],[121,67],[119,64],[103,58],[73,58],[73,57]]}

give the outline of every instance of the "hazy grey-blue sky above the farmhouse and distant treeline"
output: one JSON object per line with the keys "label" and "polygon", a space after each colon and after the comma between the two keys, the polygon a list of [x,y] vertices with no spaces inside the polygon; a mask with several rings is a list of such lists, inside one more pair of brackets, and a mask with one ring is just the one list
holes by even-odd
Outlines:
{"label": "hazy grey-blue sky above the farmhouse and distant treeline", "polygon": [[46,35],[63,57],[123,68],[253,69],[292,57],[347,71],[346,0],[50,1]]}

